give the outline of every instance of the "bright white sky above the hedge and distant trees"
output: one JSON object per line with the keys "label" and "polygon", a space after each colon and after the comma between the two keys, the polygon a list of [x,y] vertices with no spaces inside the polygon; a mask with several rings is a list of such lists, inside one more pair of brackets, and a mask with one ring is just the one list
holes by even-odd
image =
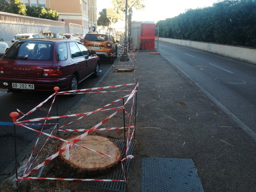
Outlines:
{"label": "bright white sky above the hedge and distant trees", "polygon": [[[210,7],[218,0],[145,0],[144,11],[133,10],[132,21],[154,21],[174,18],[188,9]],[[111,0],[97,0],[97,12],[102,9],[112,8]]]}

